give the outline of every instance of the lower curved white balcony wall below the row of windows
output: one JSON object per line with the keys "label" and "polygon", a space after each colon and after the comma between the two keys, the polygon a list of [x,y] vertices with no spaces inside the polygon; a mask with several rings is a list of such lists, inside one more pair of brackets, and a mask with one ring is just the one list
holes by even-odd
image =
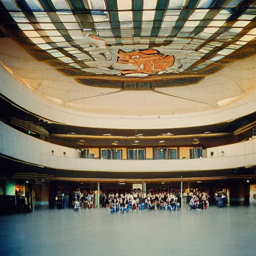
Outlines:
{"label": "lower curved white balcony wall below the row of windows", "polygon": [[[208,148],[224,150],[224,157],[177,160],[96,160],[78,158],[78,151],[24,134],[0,122],[0,153],[30,163],[59,169],[101,171],[212,170],[256,164],[256,139]],[[221,149],[220,149],[221,148]],[[224,148],[224,149],[223,149]],[[54,150],[54,156],[51,155]],[[63,157],[63,151],[66,157]]]}

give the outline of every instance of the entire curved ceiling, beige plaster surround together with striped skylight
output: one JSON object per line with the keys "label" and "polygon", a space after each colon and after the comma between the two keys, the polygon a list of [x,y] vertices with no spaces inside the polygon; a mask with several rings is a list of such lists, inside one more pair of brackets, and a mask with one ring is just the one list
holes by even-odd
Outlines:
{"label": "entire curved ceiling, beige plaster surround together with striped skylight", "polygon": [[255,87],[252,0],[0,0],[0,11],[2,65],[63,107],[198,112]]}

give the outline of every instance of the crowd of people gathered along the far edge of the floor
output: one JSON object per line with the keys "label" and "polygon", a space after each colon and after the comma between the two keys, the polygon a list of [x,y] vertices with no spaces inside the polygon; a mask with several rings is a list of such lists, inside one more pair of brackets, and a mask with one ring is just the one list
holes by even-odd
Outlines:
{"label": "crowd of people gathered along the far edge of the floor", "polygon": [[[97,191],[86,191],[77,188],[72,192],[72,206],[75,210],[79,208],[94,208]],[[214,202],[219,207],[226,203],[226,192],[215,191]],[[191,209],[206,209],[209,207],[209,194],[199,189],[186,189],[182,193],[183,203]],[[101,207],[110,208],[110,212],[125,212],[129,210],[176,210],[180,207],[181,195],[178,189],[168,191],[151,191],[143,193],[139,190],[128,192],[104,193],[100,191],[99,204]]]}

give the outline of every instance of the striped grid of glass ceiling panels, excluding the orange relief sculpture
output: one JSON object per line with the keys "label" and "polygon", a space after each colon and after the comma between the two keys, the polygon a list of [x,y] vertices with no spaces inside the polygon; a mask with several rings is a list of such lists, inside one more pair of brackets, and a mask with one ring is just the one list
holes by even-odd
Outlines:
{"label": "striped grid of glass ceiling panels, excluding the orange relief sculpture", "polygon": [[0,1],[23,36],[73,68],[100,60],[82,44],[85,33],[113,48],[189,50],[186,58],[199,61],[190,71],[217,63],[256,37],[256,6],[247,0]]}

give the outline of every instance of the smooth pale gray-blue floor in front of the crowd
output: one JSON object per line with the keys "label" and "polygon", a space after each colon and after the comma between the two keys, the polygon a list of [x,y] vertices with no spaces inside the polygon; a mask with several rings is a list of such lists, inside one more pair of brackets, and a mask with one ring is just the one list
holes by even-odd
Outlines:
{"label": "smooth pale gray-blue floor in front of the crowd", "polygon": [[256,255],[256,206],[0,216],[0,255]]}

